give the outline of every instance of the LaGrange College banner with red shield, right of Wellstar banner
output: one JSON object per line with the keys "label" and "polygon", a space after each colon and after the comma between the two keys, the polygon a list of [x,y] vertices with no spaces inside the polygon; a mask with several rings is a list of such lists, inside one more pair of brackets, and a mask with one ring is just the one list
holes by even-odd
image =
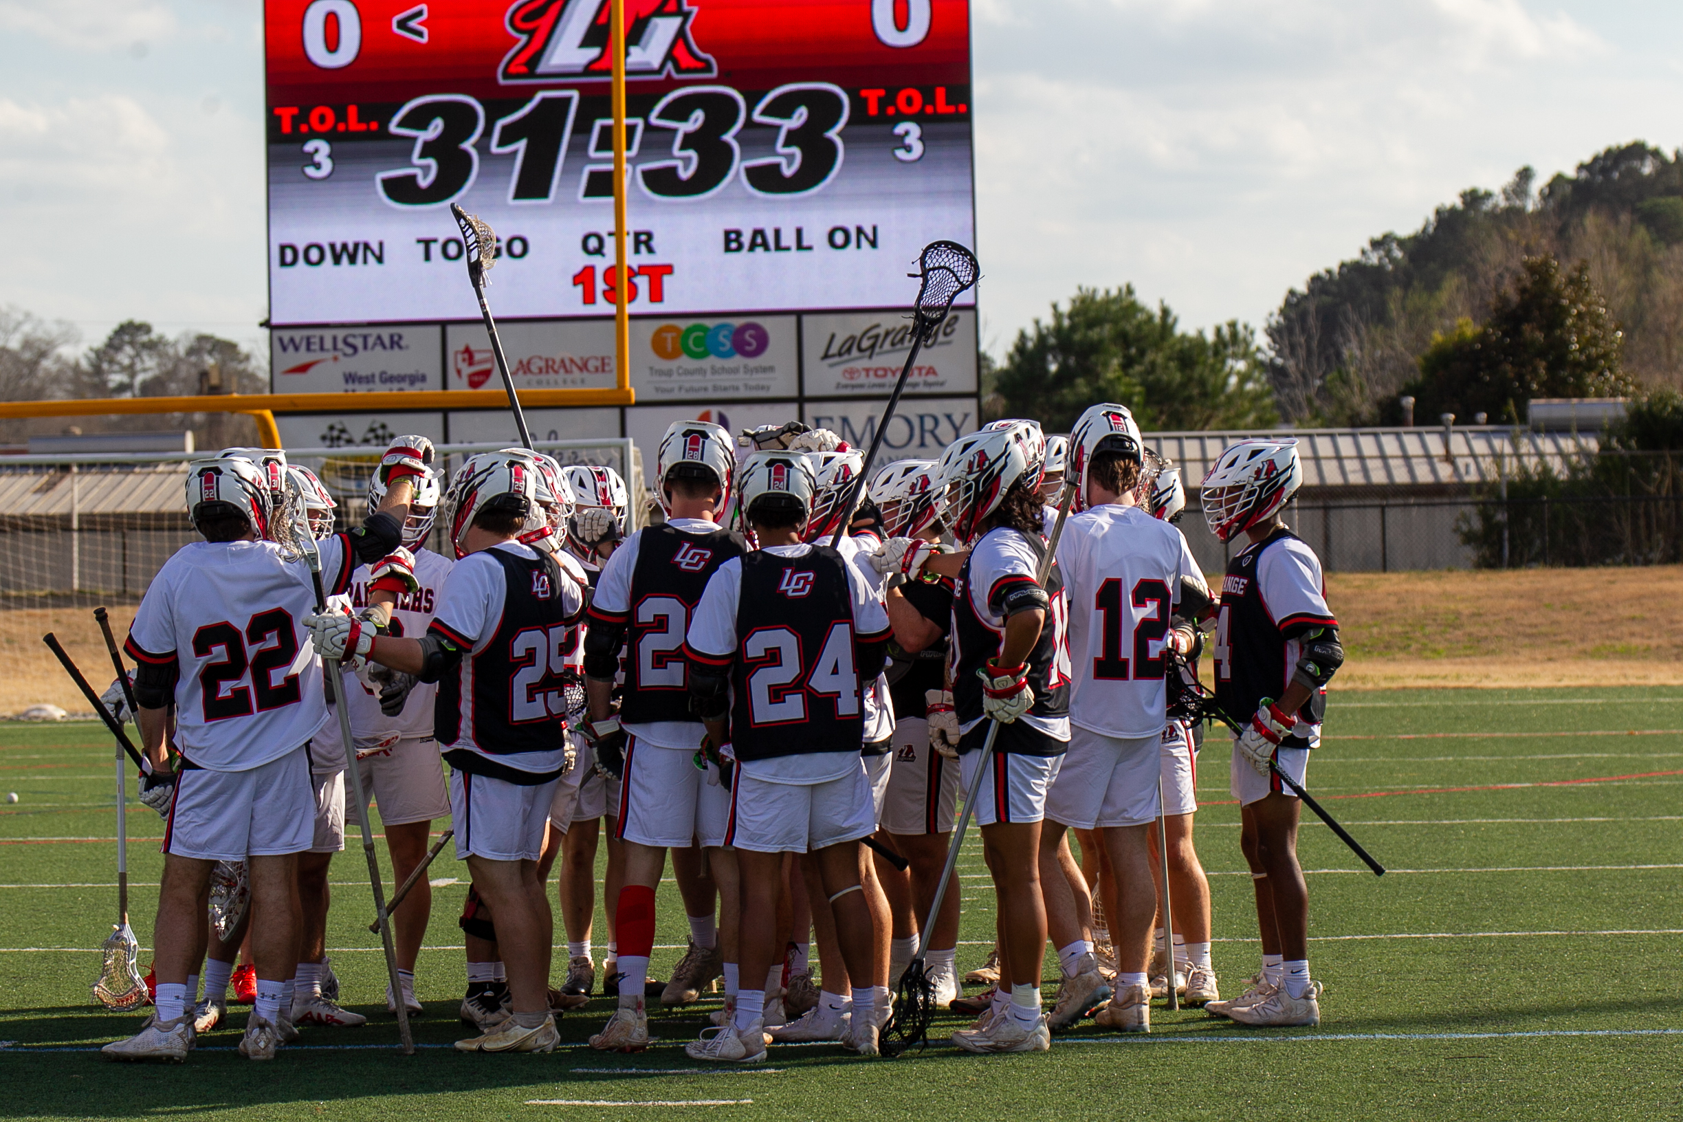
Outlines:
{"label": "LaGrange College banner with red shield, right of Wellstar banner", "polygon": [[[611,390],[616,385],[613,320],[498,321],[496,335],[517,390]],[[444,328],[444,389],[503,389],[485,323]]]}

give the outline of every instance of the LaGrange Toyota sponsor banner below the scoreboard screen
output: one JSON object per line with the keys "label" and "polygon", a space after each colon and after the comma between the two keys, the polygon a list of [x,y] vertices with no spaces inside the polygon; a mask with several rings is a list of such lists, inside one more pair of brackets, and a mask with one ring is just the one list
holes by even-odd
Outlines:
{"label": "LaGrange Toyota sponsor banner below the scoreboard screen", "polygon": [[[892,394],[912,347],[905,308],[801,316],[808,397]],[[954,308],[917,352],[907,394],[976,392],[976,311]]]}

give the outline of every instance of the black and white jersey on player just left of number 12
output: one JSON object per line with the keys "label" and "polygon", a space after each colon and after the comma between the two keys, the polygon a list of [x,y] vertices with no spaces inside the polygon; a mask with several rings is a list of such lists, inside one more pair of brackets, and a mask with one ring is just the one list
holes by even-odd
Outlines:
{"label": "black and white jersey on player just left of number 12", "polygon": [[[976,553],[996,533],[1015,533],[1028,543],[1035,557],[1045,557],[1047,548],[1045,542],[1037,535],[1027,535],[1010,527],[996,527],[985,533],[971,548],[969,557],[964,558],[964,567],[959,570],[958,582],[953,587],[953,639],[958,643],[958,658],[953,669],[953,708],[958,710],[961,725],[968,725],[985,715],[981,707],[981,678],[976,676],[976,671],[990,658],[995,658],[1005,643],[1005,631],[993,627],[983,619],[971,599],[971,584],[978,577],[973,572]],[[983,589],[983,595],[995,614],[1001,614],[1000,607],[1005,595],[1010,594],[1011,585],[1023,582],[1033,584],[1033,577],[1010,574],[993,580],[993,587]],[[1059,572],[1055,562],[1042,589],[1052,606],[1047,609],[1040,638],[1035,639],[1035,646],[1028,653],[1028,688],[1035,691],[1035,703],[1028,708],[1028,715],[1069,717],[1069,676],[1059,673],[1059,648],[1064,641],[1064,574]]]}

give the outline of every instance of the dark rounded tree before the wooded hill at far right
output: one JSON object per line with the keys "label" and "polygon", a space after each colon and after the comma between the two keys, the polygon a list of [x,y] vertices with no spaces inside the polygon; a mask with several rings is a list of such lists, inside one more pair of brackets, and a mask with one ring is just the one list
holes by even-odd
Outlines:
{"label": "dark rounded tree before the wooded hill at far right", "polygon": [[1624,397],[1636,384],[1619,365],[1622,336],[1589,281],[1548,254],[1525,257],[1513,291],[1496,296],[1489,318],[1463,320],[1420,355],[1415,414],[1488,414],[1521,421],[1533,397]]}

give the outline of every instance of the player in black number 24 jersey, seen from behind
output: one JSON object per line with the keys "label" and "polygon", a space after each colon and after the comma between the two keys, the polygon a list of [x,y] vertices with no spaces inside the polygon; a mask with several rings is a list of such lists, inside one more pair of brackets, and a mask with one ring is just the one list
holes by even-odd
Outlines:
{"label": "player in black number 24 jersey, seen from behind", "polygon": [[[741,868],[744,976],[781,972],[783,855],[804,855],[848,976],[867,981],[853,991],[843,1043],[877,1055],[870,979],[879,939],[858,848],[877,826],[860,762],[862,681],[882,668],[889,617],[838,550],[803,543],[820,493],[815,464],[799,453],[756,453],[742,464],[741,503],[761,548],[725,562],[707,582],[688,631],[690,693],[710,745],[729,745],[719,755],[734,760],[725,844]],[[762,1060],[764,1001],[766,992],[741,987],[734,1021],[685,1051],[695,1060]]]}

